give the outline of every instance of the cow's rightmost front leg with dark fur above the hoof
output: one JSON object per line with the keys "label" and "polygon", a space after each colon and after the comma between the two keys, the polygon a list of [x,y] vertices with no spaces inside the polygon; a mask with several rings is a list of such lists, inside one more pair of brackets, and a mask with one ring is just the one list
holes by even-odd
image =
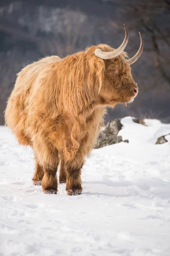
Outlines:
{"label": "cow's rightmost front leg with dark fur above the hoof", "polygon": [[74,160],[65,162],[65,170],[67,174],[66,190],[68,195],[80,195],[82,193],[81,168],[84,159],[77,154]]}

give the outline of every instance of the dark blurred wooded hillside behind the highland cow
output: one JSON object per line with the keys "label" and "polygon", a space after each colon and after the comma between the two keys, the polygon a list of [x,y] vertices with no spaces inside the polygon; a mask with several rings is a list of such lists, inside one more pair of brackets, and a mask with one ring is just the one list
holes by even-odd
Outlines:
{"label": "dark blurred wooded hillside behind the highland cow", "polygon": [[109,110],[116,117],[170,122],[170,0],[0,0],[0,125],[16,73],[46,55],[68,54],[92,44],[116,48],[129,30],[132,57],[144,38],[132,73],[139,86],[133,104]]}

